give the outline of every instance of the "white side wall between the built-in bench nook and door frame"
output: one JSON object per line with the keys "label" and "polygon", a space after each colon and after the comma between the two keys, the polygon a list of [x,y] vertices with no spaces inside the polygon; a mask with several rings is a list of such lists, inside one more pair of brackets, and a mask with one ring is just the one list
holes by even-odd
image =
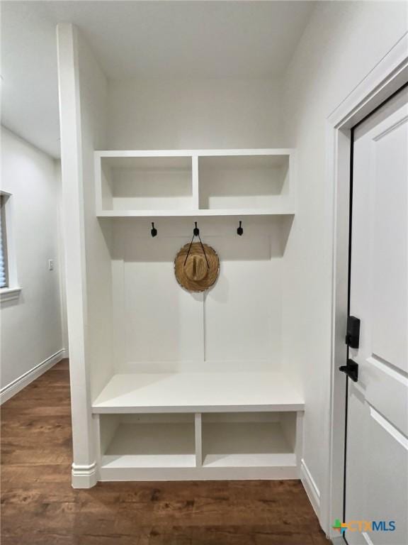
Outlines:
{"label": "white side wall between the built-in bench nook and door frame", "polygon": [[283,263],[283,363],[302,376],[303,456],[322,494],[331,358],[326,120],[405,32],[403,2],[319,2],[283,87],[286,143],[297,148],[299,173],[297,214]]}

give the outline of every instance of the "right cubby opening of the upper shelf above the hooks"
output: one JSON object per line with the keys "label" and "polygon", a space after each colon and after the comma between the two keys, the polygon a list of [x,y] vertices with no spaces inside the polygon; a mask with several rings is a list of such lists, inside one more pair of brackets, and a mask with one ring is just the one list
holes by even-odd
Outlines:
{"label": "right cubby opening of the upper shelf above the hooks", "polygon": [[198,158],[200,209],[270,209],[289,194],[289,155]]}

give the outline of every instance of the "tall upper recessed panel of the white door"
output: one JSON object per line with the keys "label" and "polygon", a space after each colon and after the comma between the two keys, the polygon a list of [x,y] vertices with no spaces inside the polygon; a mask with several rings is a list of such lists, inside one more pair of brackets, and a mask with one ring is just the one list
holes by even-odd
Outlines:
{"label": "tall upper recessed panel of the white door", "polygon": [[[407,372],[407,117],[390,116],[371,137],[373,157],[372,345]],[[382,132],[381,128],[384,130]]]}

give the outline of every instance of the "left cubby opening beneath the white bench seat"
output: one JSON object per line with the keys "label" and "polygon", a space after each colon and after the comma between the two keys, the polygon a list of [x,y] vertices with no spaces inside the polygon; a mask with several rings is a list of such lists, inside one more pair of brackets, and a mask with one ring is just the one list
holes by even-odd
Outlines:
{"label": "left cubby opening beneath the white bench seat", "polygon": [[103,414],[100,434],[105,468],[196,466],[193,414]]}

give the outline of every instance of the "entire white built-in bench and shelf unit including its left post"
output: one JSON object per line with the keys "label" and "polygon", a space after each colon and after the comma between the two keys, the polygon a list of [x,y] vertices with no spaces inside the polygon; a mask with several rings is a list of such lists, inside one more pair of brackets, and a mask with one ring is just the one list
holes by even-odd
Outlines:
{"label": "entire white built-in bench and shelf unit including its left post", "polygon": [[[110,95],[69,24],[58,54],[73,485],[297,478],[305,403],[283,290],[295,150],[115,149],[135,147],[138,105]],[[174,277],[194,221],[220,258],[198,294]]]}

